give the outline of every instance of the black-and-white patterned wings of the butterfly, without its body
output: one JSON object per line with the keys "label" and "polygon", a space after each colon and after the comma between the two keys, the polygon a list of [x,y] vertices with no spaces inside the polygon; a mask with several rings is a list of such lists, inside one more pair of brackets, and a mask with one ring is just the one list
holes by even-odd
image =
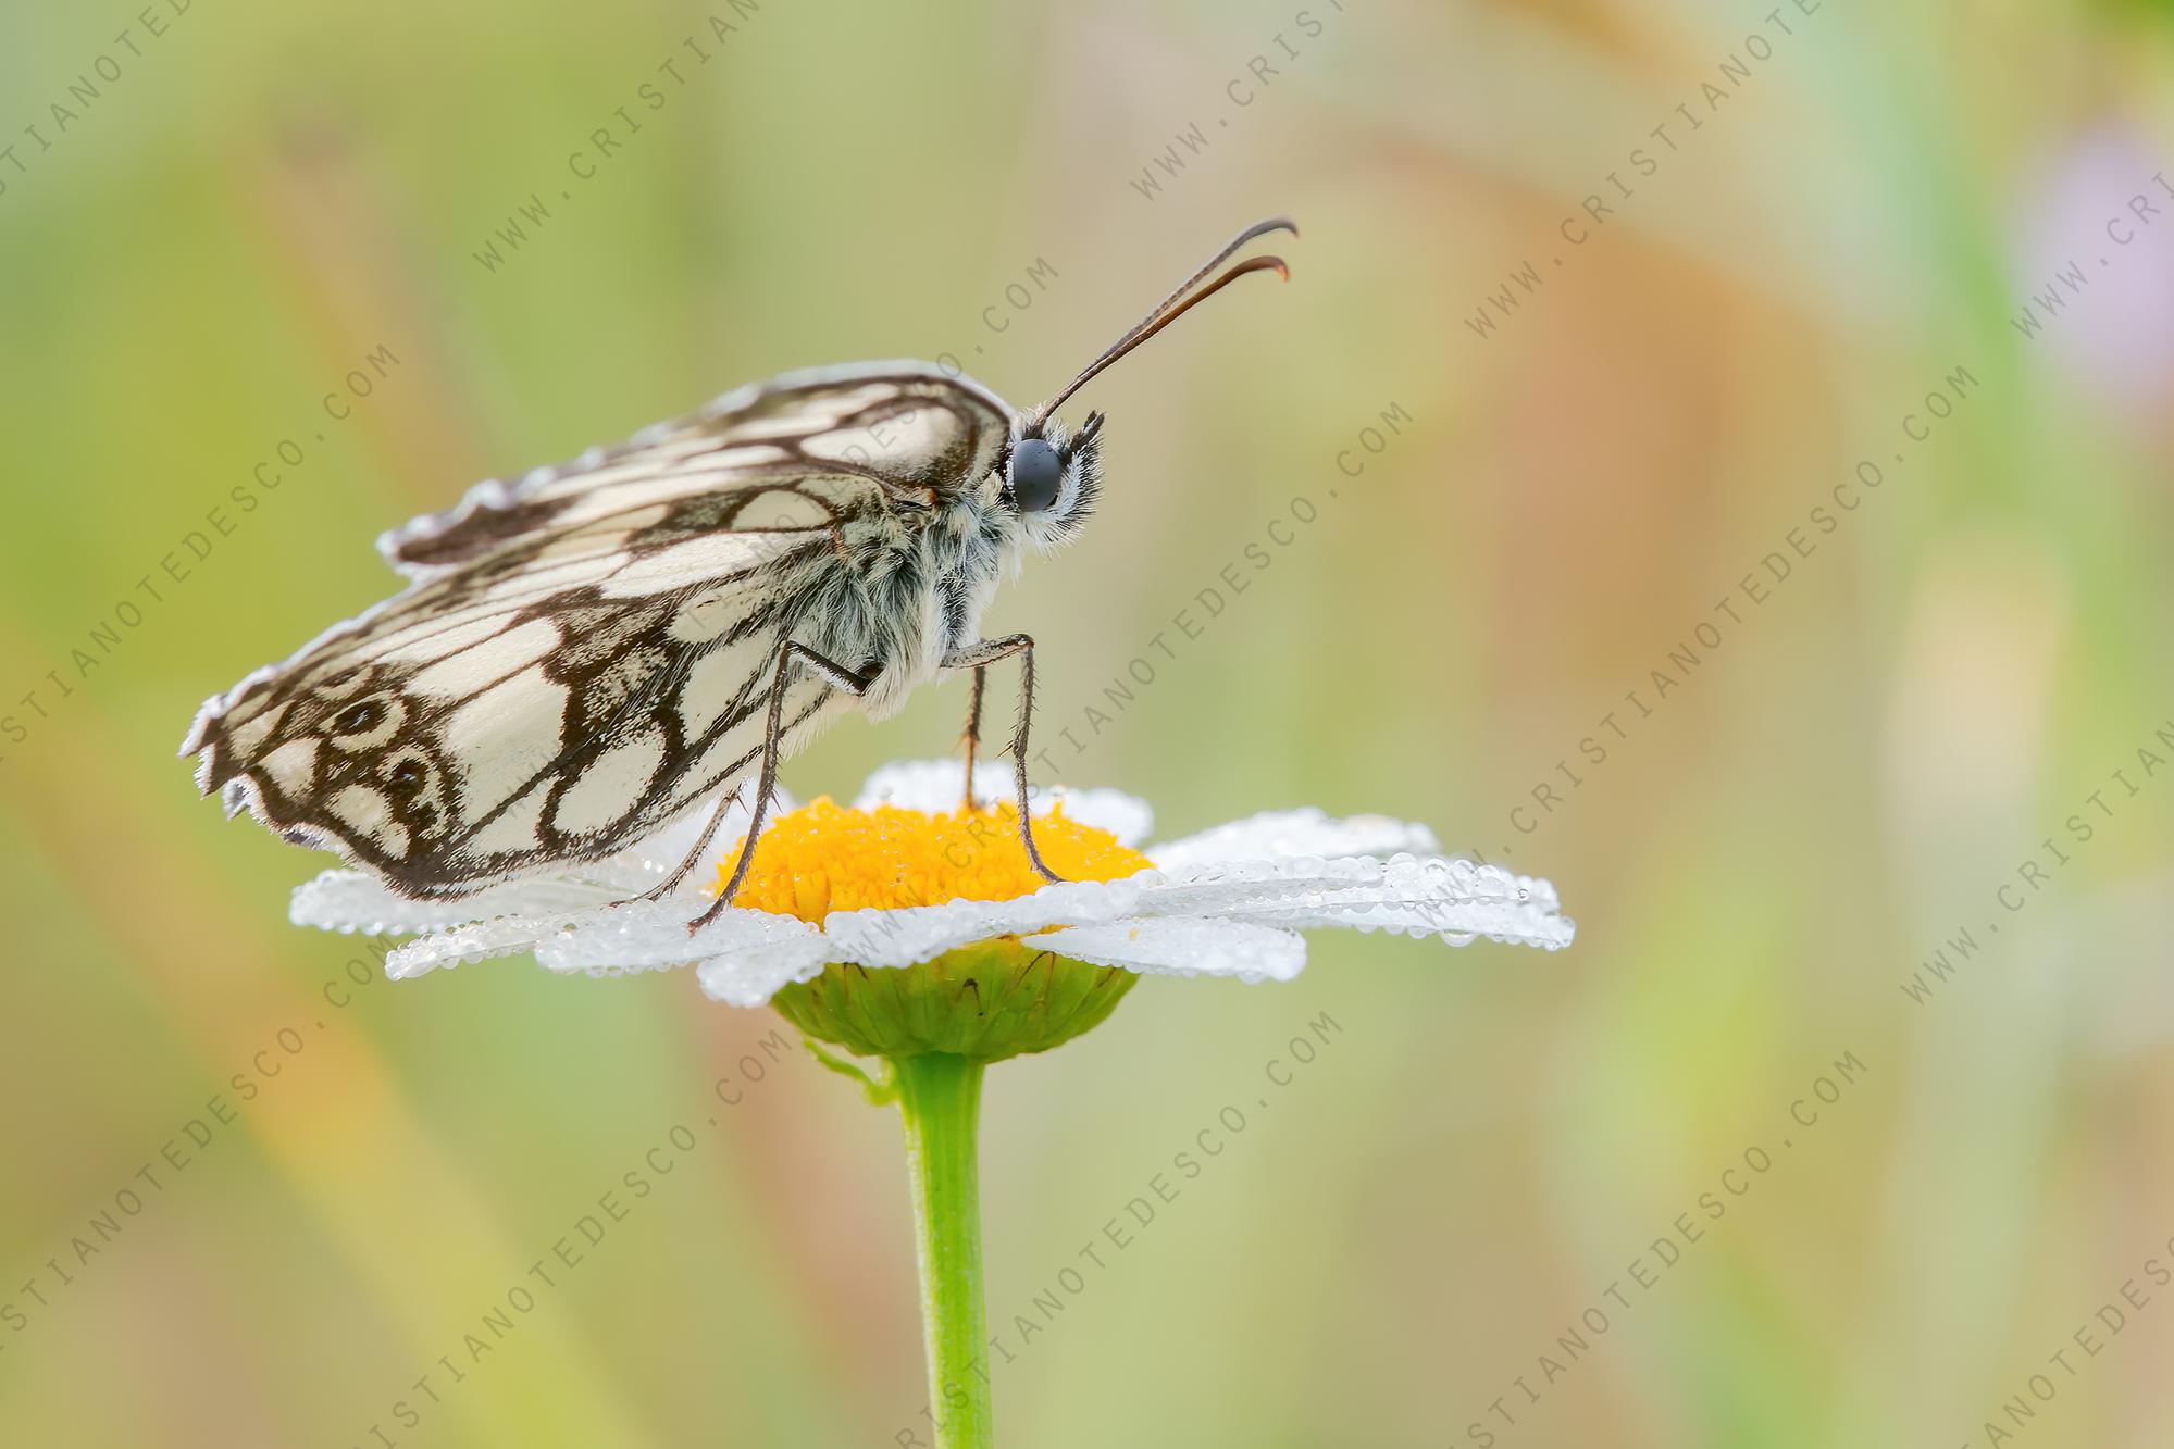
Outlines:
{"label": "black-and-white patterned wings of the butterfly, without its body", "polygon": [[[602,858],[752,773],[780,643],[874,606],[852,560],[1009,419],[922,363],[789,374],[478,484],[378,541],[404,593],[209,700],[183,754],[228,812],[413,897]],[[837,704],[798,678],[787,745]]]}

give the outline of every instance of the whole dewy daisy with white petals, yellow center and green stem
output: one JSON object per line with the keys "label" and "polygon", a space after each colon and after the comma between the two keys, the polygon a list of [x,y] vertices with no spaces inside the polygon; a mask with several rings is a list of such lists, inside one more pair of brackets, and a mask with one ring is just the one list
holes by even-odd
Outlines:
{"label": "whole dewy daisy with white petals, yellow center and green stem", "polygon": [[[1424,826],[1380,815],[1274,810],[1144,847],[1154,817],[1130,795],[1037,791],[1028,808],[1059,884],[1028,862],[1013,806],[991,791],[965,808],[963,767],[924,760],[878,769],[850,806],[776,799],[733,908],[694,932],[739,862],[735,847],[715,875],[661,891],[707,808],[620,856],[461,902],[326,871],[293,893],[291,915],[415,936],[387,956],[393,978],[496,956],[589,975],[694,967],[717,1001],[785,1015],[820,1060],[900,1108],[939,1445],[983,1449],[976,1121],[989,1062],[1091,1030],[1141,975],[1287,982],[1307,965],[1307,930],[1546,949],[1574,930],[1546,880],[1448,858]],[[744,815],[728,819],[720,839],[744,830]]]}

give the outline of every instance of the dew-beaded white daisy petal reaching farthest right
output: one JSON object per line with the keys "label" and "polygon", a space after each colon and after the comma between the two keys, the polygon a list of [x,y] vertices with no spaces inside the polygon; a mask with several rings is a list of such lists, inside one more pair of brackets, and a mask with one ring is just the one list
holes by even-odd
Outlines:
{"label": "dew-beaded white daisy petal reaching farthest right", "polygon": [[1241,860],[1170,871],[1139,897],[1141,915],[1287,925],[1352,925],[1561,949],[1576,925],[1557,915],[1554,886],[1500,867],[1441,856],[1394,860]]}

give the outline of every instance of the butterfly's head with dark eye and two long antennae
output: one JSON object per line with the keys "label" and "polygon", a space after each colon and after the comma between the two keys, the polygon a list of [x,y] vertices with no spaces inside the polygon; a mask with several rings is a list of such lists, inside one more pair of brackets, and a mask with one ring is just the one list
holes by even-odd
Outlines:
{"label": "butterfly's head with dark eye and two long antennae", "polygon": [[1276,272],[1287,278],[1289,267],[1283,265],[1280,256],[1252,256],[1237,263],[1213,282],[1207,280],[1209,274],[1230,261],[1241,245],[1263,232],[1276,230],[1291,232],[1294,237],[1298,235],[1298,228],[1283,217],[1254,222],[1233,237],[1224,250],[1211,256],[1207,265],[1185,278],[1176,291],[1157,302],[1154,308],[1133,326],[1133,330],[1104,348],[1102,356],[1087,363],[1080,376],[1072,378],[1063,391],[1013,424],[1011,441],[1002,461],[1002,504],[1020,519],[1020,530],[1028,539],[1041,547],[1057,547],[1070,541],[1094,511],[1096,493],[1102,491],[1102,415],[1089,413],[1087,421],[1080,424],[1080,430],[1067,434],[1065,426],[1054,417],[1057,408],[1072,393],[1094,380],[1094,376],[1104,367],[1248,272]]}

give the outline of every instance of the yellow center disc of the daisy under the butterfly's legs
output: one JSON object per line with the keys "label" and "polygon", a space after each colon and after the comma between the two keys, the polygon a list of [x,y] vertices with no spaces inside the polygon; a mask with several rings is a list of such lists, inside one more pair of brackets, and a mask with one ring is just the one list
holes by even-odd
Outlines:
{"label": "yellow center disc of the daisy under the butterfly's legs", "polygon": [[[720,891],[744,845],[717,867]],[[1035,847],[1065,880],[1122,880],[1152,865],[1107,830],[1065,819],[1061,804],[1035,817]],[[763,826],[733,904],[820,925],[833,910],[1009,902],[1046,884],[1026,860],[1013,806],[926,815],[898,806],[848,810],[817,797]]]}

